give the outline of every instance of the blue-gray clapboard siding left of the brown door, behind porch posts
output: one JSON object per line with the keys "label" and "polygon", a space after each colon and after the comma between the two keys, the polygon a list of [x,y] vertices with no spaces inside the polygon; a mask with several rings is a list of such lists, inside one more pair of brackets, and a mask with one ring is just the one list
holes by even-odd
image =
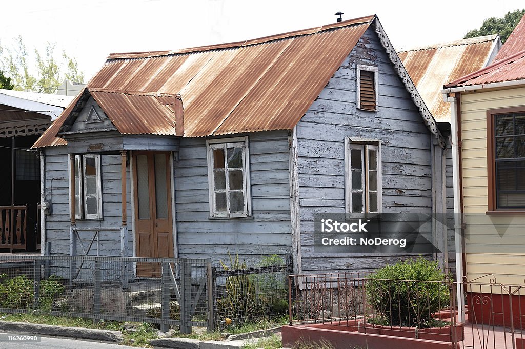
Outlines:
{"label": "blue-gray clapboard siding left of the brown door, behind porch posts", "polygon": [[[51,255],[69,255],[69,176],[68,155],[66,146],[50,146],[45,148],[45,196],[51,202],[51,215],[46,216],[46,241],[50,242]],[[120,227],[121,217],[121,165],[119,155],[102,155],[102,215],[103,220],[77,220],[78,227]],[[131,185],[130,172],[127,174],[128,203],[128,250],[133,253],[132,220],[131,220]],[[82,243],[87,248],[93,232],[80,232]],[[82,249],[77,243],[77,254],[82,255]],[[89,255],[96,255],[96,245],[93,244]],[[120,255],[120,232],[100,232],[100,255]]]}

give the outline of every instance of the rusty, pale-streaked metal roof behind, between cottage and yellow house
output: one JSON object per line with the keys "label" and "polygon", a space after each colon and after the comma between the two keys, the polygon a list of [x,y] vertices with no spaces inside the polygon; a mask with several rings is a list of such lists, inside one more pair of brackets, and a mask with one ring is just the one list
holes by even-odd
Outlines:
{"label": "rusty, pale-streaked metal roof behind, between cottage and yellow house", "polygon": [[437,121],[450,122],[450,106],[440,92],[443,84],[484,67],[497,40],[497,35],[489,35],[398,53]]}

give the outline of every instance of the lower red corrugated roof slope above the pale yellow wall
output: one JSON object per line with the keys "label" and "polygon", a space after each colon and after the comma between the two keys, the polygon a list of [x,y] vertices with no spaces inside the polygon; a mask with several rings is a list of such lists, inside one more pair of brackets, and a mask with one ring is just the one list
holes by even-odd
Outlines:
{"label": "lower red corrugated roof slope above the pale yellow wall", "polygon": [[445,85],[445,88],[525,79],[525,50]]}

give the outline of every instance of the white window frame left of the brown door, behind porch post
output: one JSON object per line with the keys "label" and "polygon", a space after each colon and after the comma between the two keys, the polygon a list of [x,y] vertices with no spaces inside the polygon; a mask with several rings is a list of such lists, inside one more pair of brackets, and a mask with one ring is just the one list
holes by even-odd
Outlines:
{"label": "white window frame left of the brown door, behind porch post", "polygon": [[[97,185],[97,194],[96,195],[88,195],[86,192],[86,186],[84,183],[86,183],[86,166],[85,162],[87,158],[95,158],[95,170],[96,170],[96,185]],[[78,189],[78,192],[82,194],[82,197],[79,200],[80,205],[75,205],[76,207],[76,215],[75,217],[77,219],[102,219],[102,173],[101,173],[101,160],[100,155],[97,154],[82,154],[82,155],[75,155],[75,162],[74,164],[78,166],[76,169],[76,172],[78,171],[79,177],[77,180],[77,177],[70,178],[70,181],[77,181],[76,182],[76,188]],[[91,197],[97,197],[97,213],[95,214],[87,214],[87,198],[88,196]],[[73,200],[77,199],[77,193],[75,193],[75,197],[71,198]]]}

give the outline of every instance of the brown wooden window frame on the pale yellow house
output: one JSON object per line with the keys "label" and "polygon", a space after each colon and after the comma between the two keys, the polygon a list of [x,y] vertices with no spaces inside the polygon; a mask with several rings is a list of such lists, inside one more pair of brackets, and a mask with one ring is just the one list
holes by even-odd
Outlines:
{"label": "brown wooden window frame on the pale yellow house", "polygon": [[487,194],[488,215],[525,214],[524,208],[498,208],[496,203],[496,139],[494,134],[495,115],[525,112],[525,105],[517,107],[487,109]]}

